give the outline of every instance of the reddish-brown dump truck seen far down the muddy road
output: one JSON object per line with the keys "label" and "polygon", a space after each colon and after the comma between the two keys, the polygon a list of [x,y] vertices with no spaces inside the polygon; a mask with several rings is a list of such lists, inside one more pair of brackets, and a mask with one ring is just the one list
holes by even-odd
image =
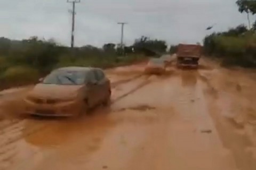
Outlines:
{"label": "reddish-brown dump truck seen far down the muddy road", "polygon": [[177,51],[177,66],[197,68],[202,54],[202,46],[194,44],[179,44]]}

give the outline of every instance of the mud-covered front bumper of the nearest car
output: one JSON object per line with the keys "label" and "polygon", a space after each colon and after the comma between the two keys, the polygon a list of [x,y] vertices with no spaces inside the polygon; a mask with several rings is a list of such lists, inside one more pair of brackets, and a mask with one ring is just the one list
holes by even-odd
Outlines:
{"label": "mud-covered front bumper of the nearest car", "polygon": [[52,117],[70,117],[81,112],[78,102],[65,102],[61,104],[36,104],[25,100],[25,114]]}

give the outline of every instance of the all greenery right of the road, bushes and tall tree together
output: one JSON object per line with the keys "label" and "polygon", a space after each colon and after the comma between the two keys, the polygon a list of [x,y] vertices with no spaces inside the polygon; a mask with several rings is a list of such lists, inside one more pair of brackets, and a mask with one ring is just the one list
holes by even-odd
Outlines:
{"label": "all greenery right of the road, bushes and tall tree together", "polygon": [[256,1],[238,0],[238,11],[248,16],[249,28],[241,24],[204,38],[206,56],[218,58],[225,66],[256,67],[256,22],[251,27],[249,14],[256,13]]}

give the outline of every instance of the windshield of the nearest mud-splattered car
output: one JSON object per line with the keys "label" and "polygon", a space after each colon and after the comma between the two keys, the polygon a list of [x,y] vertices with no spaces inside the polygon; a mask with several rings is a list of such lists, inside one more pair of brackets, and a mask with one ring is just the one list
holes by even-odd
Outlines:
{"label": "windshield of the nearest mud-splattered car", "polygon": [[54,71],[47,75],[43,84],[78,85],[86,79],[85,71]]}

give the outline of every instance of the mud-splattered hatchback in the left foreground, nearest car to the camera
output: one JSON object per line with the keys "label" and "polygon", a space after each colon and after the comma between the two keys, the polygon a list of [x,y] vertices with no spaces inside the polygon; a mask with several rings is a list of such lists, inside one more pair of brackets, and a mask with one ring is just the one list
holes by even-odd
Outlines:
{"label": "mud-splattered hatchback in the left foreground, nearest car to the camera", "polygon": [[109,104],[110,81],[91,67],[63,67],[53,70],[23,99],[25,114],[77,116],[99,104]]}

